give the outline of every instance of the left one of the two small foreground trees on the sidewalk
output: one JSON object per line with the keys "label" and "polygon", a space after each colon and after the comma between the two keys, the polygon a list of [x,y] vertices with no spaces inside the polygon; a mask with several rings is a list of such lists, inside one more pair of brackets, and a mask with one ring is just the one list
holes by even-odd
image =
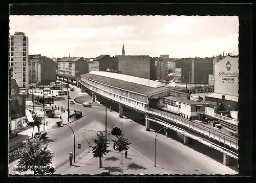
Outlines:
{"label": "left one of the two small foreground trees on the sidewalk", "polygon": [[99,157],[99,168],[101,168],[103,154],[109,153],[110,150],[107,149],[109,146],[102,132],[100,132],[100,134],[97,133],[97,138],[94,139],[93,142],[95,144],[95,146],[92,147],[93,157]]}

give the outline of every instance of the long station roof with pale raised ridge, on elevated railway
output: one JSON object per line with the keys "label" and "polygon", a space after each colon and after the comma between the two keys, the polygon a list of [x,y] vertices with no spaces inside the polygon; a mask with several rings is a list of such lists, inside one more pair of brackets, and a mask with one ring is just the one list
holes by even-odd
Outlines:
{"label": "long station roof with pale raised ridge, on elevated railway", "polygon": [[117,73],[92,71],[81,76],[93,81],[125,90],[134,91],[144,95],[161,92],[168,89],[168,87],[165,87],[161,82]]}

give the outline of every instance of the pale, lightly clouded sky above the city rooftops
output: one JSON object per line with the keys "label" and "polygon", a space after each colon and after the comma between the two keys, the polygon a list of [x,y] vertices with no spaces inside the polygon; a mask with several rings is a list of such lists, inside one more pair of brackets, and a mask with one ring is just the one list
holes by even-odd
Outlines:
{"label": "pale, lightly clouded sky above the city rooftops", "polygon": [[170,58],[238,55],[238,16],[10,16],[10,35],[29,37],[29,54]]}

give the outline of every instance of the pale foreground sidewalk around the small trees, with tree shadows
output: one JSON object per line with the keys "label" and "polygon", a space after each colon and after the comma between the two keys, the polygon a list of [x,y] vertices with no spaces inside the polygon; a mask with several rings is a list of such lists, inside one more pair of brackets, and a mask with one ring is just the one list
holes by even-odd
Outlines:
{"label": "pale foreground sidewalk around the small trees, with tree shadows", "polygon": [[[104,155],[102,168],[99,168],[99,158],[93,157],[92,152],[84,153],[76,159],[76,163],[72,166],[67,164],[57,169],[54,174],[98,174],[101,170],[110,170],[113,175],[122,174],[122,165],[120,164],[120,152],[114,151],[113,143],[109,145],[111,150],[108,154]],[[127,158],[124,158],[123,151],[123,174],[166,174],[166,172],[149,161],[142,154],[138,153],[133,148],[127,151]]]}

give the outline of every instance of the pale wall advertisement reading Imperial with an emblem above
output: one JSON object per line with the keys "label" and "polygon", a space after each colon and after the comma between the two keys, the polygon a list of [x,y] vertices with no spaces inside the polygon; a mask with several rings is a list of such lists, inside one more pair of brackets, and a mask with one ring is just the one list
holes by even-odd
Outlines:
{"label": "pale wall advertisement reading Imperial with an emblem above", "polygon": [[225,57],[215,64],[214,92],[238,96],[238,57]]}

